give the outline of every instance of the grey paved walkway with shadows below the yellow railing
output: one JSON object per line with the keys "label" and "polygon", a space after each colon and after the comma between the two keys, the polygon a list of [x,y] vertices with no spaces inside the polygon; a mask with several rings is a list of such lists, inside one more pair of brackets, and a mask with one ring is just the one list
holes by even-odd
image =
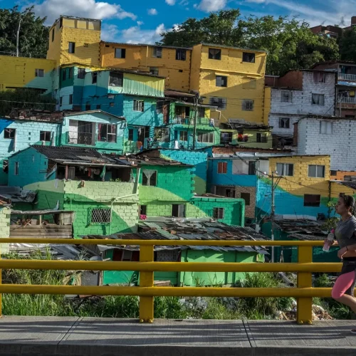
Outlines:
{"label": "grey paved walkway with shadows below the yellow railing", "polygon": [[351,356],[355,323],[4,317],[0,356]]}

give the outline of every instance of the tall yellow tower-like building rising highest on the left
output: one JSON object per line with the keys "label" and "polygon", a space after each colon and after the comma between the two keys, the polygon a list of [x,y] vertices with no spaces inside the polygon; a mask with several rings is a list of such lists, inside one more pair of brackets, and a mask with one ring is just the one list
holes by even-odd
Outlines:
{"label": "tall yellow tower-like building rising highest on the left", "polygon": [[100,66],[101,21],[61,16],[49,31],[47,59]]}

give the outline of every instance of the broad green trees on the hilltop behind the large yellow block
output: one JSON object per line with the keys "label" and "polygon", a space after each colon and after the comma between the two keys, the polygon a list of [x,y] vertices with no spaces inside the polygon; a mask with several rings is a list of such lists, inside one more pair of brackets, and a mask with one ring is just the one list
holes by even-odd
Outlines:
{"label": "broad green trees on the hilltop behind the large yellow block", "polygon": [[166,46],[205,42],[267,51],[266,73],[274,75],[338,58],[335,39],[315,35],[305,21],[287,16],[241,18],[238,9],[211,13],[201,20],[187,19],[162,37]]}

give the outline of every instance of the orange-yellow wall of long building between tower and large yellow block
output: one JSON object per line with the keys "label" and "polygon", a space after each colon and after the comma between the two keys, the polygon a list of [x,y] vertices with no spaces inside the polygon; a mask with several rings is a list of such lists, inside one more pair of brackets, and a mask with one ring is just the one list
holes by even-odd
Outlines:
{"label": "orange-yellow wall of long building between tower and large yellow block", "polygon": [[[125,48],[125,58],[115,58],[115,48]],[[101,65],[108,68],[125,68],[150,71],[158,68],[159,75],[166,78],[165,87],[189,91],[191,51],[187,50],[185,61],[176,60],[175,48],[162,48],[162,58],[152,57],[155,46],[137,46],[120,43],[101,43]],[[182,72],[179,72],[182,70]]]}

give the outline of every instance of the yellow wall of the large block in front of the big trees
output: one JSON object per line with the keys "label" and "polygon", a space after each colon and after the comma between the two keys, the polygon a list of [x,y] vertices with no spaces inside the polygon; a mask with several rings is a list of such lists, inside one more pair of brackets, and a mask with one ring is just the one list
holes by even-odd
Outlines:
{"label": "yellow wall of the large block in front of the big trees", "polygon": [[[209,48],[221,49],[220,61],[209,59]],[[255,53],[255,63],[243,62],[244,52]],[[226,109],[222,110],[223,119],[263,122],[266,53],[239,48],[199,45],[194,46],[192,66],[194,66],[194,70],[192,69],[191,89],[197,90],[197,76],[199,75],[199,92],[201,96],[206,96],[204,103],[209,103],[210,97],[226,98]],[[226,88],[216,87],[216,75],[228,77]],[[244,99],[254,101],[252,111],[242,110],[242,100]]]}

